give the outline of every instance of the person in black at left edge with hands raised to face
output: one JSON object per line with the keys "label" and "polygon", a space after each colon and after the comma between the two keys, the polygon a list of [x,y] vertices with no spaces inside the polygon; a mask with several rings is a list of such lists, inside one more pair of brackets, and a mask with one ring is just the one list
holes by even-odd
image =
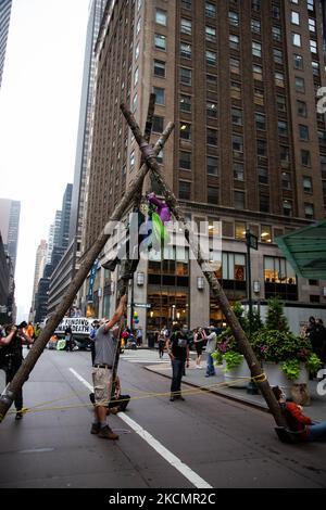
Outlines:
{"label": "person in black at left edge with hands raised to face", "polygon": [[[33,344],[33,339],[25,333],[26,322],[22,322],[18,327],[10,324],[4,328],[4,335],[0,337],[0,347],[2,358],[4,359],[5,384],[8,385],[18,371],[23,362],[23,344]],[[23,418],[23,390],[17,392],[15,397],[16,420]]]}

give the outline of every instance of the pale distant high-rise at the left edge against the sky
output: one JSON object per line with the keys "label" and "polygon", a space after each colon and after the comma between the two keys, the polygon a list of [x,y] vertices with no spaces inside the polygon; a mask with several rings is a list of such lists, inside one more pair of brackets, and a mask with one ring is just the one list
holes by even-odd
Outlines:
{"label": "pale distant high-rise at the left edge against the sky", "polygon": [[18,230],[20,230],[21,202],[0,199],[0,231],[4,250],[11,257],[13,271],[15,271]]}

